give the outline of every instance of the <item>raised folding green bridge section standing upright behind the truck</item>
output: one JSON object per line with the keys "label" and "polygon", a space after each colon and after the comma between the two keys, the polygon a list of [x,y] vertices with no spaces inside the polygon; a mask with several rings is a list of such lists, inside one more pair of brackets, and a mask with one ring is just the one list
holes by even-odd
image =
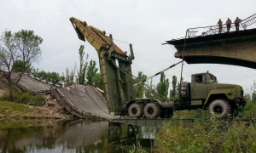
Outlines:
{"label": "raised folding green bridge section standing upright behind the truck", "polygon": [[[70,21],[79,39],[84,42],[86,39],[96,49],[108,110],[109,112],[119,112],[119,108],[124,104],[124,101],[131,101],[136,98],[133,88],[134,82],[131,77],[126,76],[126,74],[131,75],[131,61],[134,59],[131,44],[131,55],[127,56],[126,52],[123,52],[113,43],[111,34],[108,37],[105,31],[88,26],[85,21],[73,17],[70,18]],[[116,64],[116,60],[118,60],[119,65]]]}

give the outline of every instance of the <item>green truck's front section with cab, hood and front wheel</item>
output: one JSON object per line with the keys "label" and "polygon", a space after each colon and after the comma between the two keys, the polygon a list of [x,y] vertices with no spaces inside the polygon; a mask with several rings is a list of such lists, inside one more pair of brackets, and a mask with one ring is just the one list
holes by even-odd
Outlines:
{"label": "green truck's front section with cab, hood and front wheel", "polygon": [[241,86],[218,83],[209,72],[191,75],[191,83],[182,83],[180,97],[175,101],[176,110],[202,108],[220,118],[237,116],[238,106],[246,105]]}

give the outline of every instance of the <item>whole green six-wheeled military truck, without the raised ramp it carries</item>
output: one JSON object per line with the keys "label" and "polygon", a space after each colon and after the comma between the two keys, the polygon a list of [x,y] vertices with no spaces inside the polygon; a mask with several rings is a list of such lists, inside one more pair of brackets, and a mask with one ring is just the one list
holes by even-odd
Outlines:
{"label": "whole green six-wheeled military truck, without the raised ramp it carries", "polygon": [[211,116],[224,119],[238,115],[238,106],[245,106],[243,89],[239,85],[218,83],[211,73],[199,73],[191,76],[190,82],[182,82],[180,99],[162,102],[158,99],[137,99],[123,107],[125,115],[137,118],[171,118],[173,111],[209,110]]}

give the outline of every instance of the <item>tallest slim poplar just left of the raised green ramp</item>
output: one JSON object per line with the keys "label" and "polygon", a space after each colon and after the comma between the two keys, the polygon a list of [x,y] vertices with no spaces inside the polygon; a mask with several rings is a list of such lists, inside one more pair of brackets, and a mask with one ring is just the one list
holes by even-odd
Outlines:
{"label": "tallest slim poplar just left of the raised green ramp", "polygon": [[78,79],[77,82],[79,82],[79,84],[85,84],[85,72],[87,69],[87,59],[88,59],[89,55],[86,54],[86,60],[84,63],[84,45],[81,45],[79,48],[79,59],[80,59],[80,67],[79,67],[79,71],[78,71]]}

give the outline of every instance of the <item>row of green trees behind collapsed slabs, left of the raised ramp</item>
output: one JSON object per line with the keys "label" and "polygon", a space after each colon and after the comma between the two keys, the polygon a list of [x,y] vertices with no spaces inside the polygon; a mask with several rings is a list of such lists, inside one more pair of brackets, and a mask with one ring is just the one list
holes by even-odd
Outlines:
{"label": "row of green trees behind collapsed slabs, left of the raised ramp", "polygon": [[[32,67],[31,64],[26,65],[25,73],[32,74],[34,77],[40,77],[48,82],[59,85],[70,85],[73,82],[79,82],[79,84],[96,85],[98,88],[102,86],[102,76],[96,68],[96,61],[90,59],[88,63],[89,54],[84,57],[84,45],[79,48],[79,67],[75,64],[73,68],[66,68],[66,73],[62,74],[58,72],[39,71]],[[14,64],[14,72],[21,72],[24,69],[24,63],[22,60],[16,60]]]}

